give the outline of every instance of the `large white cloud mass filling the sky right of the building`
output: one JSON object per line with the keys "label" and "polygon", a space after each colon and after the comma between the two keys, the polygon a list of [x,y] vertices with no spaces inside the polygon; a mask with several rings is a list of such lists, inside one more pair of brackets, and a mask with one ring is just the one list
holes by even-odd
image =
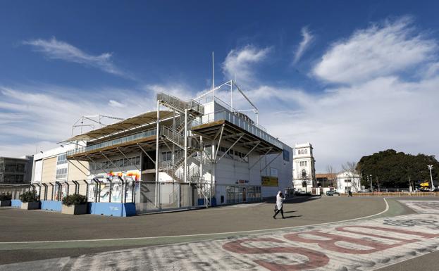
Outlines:
{"label": "large white cloud mass filling the sky right of the building", "polygon": [[[311,142],[322,172],[390,148],[439,156],[439,126],[431,122],[439,115],[438,42],[410,23],[374,24],[330,46],[314,75],[342,85],[313,92],[257,82],[247,96],[259,107],[259,123],[290,146]],[[236,95],[233,104],[246,101]]]}

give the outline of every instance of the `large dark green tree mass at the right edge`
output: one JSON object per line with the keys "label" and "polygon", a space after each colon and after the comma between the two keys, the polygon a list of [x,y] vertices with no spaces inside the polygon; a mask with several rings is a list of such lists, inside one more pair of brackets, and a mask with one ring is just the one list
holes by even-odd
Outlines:
{"label": "large dark green tree mass at the right edge", "polygon": [[367,176],[372,175],[373,185],[376,186],[378,177],[380,187],[403,188],[412,182],[430,181],[430,171],[427,165],[433,165],[433,180],[438,179],[439,163],[435,156],[419,153],[416,156],[389,149],[363,156],[357,164],[361,173],[361,184],[370,187]]}

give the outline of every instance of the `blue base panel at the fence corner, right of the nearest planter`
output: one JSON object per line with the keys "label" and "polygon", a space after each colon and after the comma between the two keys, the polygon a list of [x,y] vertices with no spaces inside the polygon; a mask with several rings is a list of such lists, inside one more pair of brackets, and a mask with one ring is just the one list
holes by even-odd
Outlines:
{"label": "blue base panel at the fence corner, right of the nearest planter", "polygon": [[91,202],[88,213],[92,215],[132,216],[136,215],[135,203]]}

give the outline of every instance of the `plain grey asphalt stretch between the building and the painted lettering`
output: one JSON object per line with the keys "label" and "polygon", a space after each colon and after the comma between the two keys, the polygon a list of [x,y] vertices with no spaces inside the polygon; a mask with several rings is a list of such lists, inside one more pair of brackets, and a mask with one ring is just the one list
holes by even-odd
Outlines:
{"label": "plain grey asphalt stretch between the building and the painted lettering", "polygon": [[[276,220],[272,218],[273,207],[274,202],[268,201],[130,218],[70,216],[42,210],[0,208],[1,242],[25,242],[0,244],[0,264],[75,257],[123,248],[234,237],[245,234],[240,232],[252,230],[270,231],[350,220],[381,212],[385,209],[385,202],[383,198],[297,197],[285,202],[286,219],[281,219],[279,214]],[[398,209],[400,213],[409,211]],[[163,238],[126,239],[139,237]],[[87,241],[92,239],[111,240]],[[27,243],[62,240],[83,241]]]}

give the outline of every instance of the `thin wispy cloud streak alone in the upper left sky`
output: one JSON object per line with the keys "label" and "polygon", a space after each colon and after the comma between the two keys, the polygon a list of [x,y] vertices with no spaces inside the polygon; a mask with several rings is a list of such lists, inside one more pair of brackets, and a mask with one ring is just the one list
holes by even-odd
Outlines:
{"label": "thin wispy cloud streak alone in the upper left sky", "polygon": [[32,39],[23,42],[32,46],[35,51],[43,53],[51,59],[61,59],[63,61],[80,63],[94,68],[104,70],[106,73],[118,75],[121,77],[131,77],[123,70],[120,70],[111,61],[112,53],[101,53],[100,55],[92,55],[85,53],[78,47],[67,42],[58,41],[55,37],[51,39]]}

